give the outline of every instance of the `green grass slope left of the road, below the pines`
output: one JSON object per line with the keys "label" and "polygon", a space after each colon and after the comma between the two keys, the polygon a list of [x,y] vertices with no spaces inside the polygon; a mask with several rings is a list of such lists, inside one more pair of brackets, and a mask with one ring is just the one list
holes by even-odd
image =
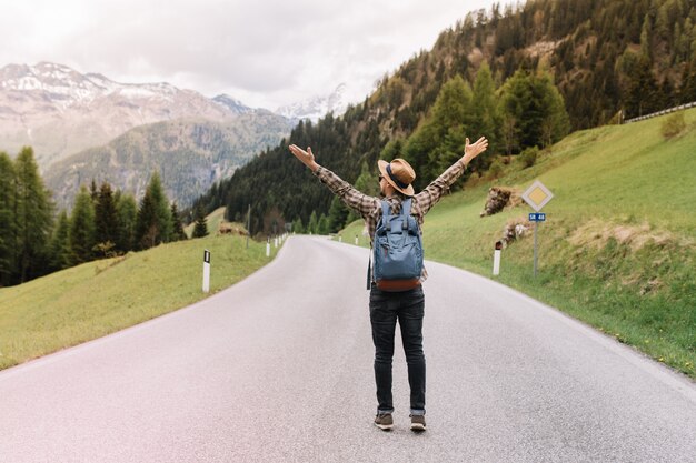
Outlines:
{"label": "green grass slope left of the road, below the pines", "polygon": [[202,254],[211,253],[210,294],[269,259],[266,243],[206,236],[89,262],[0,289],[0,370],[189,305],[202,292]]}

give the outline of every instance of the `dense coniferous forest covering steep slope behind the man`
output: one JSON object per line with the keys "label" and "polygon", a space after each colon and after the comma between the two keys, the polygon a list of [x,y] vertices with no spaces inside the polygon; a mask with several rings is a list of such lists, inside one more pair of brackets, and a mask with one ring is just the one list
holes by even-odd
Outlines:
{"label": "dense coniferous forest covering steep slope behind the man", "polygon": [[402,157],[418,190],[461,153],[466,137],[491,144],[465,180],[498,154],[696,101],[695,23],[689,0],[534,0],[469,13],[362,103],[300,122],[196,205],[226,205],[229,220],[251,205],[252,233],[279,221],[318,231],[321,218],[324,231],[337,231],[355,217],[331,204],[288,144],[312,147],[320,164],[356,184],[376,183],[378,159]]}

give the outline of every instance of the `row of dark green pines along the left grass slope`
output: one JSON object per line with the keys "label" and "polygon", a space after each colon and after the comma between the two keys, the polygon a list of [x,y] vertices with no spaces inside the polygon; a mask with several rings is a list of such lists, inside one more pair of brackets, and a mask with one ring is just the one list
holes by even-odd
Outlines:
{"label": "row of dark green pines along the left grass slope", "polygon": [[140,202],[108,182],[92,181],[89,189],[80,187],[70,213],[56,214],[33,150],[23,148],[14,160],[0,152],[0,286],[186,240],[180,215],[158,173]]}

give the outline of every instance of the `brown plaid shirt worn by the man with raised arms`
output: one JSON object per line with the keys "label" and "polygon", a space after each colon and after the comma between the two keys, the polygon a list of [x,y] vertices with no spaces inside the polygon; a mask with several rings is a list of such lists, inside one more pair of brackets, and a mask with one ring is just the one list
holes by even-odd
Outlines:
{"label": "brown plaid shirt worn by the man with raised arms", "polygon": [[[459,178],[466,167],[459,161],[455,162],[435,179],[425,190],[412,197],[411,201],[411,215],[416,218],[418,224],[422,227],[425,215],[430,209],[437,204],[443,194],[449,191],[449,187]],[[375,241],[375,229],[381,218],[381,200],[379,198],[369,197],[356,190],[350,183],[342,180],[340,177],[331,172],[326,168],[319,168],[315,172],[315,175],[324,182],[334,194],[338,195],[341,201],[359,213],[365,219],[365,225],[370,235],[370,245]],[[404,197],[399,193],[385,198],[391,207],[391,213],[398,214],[401,212],[401,201]],[[421,232],[422,233],[422,232]],[[425,281],[428,278],[428,272],[424,266],[420,281]]]}

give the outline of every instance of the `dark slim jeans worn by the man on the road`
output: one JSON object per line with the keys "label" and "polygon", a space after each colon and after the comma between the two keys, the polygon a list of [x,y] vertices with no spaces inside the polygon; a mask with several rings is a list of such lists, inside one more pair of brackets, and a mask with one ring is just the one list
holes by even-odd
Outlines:
{"label": "dark slim jeans worn by the man on the road", "polygon": [[377,383],[377,412],[392,413],[391,359],[397,319],[401,331],[408,383],[410,385],[411,414],[426,413],[426,358],[422,353],[422,315],[425,295],[422,286],[404,292],[386,292],[372,286],[370,291],[370,322],[375,342],[375,381]]}

